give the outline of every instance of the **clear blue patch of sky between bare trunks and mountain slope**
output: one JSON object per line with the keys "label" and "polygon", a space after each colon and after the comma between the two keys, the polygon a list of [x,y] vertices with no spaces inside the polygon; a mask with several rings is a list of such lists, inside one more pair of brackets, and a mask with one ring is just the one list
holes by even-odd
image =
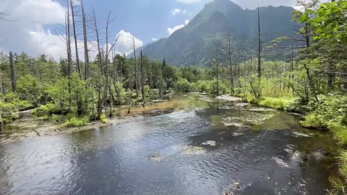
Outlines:
{"label": "clear blue patch of sky between bare trunks and mountain slope", "polygon": [[[86,0],[85,0],[86,1]],[[126,0],[126,1],[86,1],[86,7],[94,7],[97,17],[101,20],[107,17],[108,10],[117,17],[113,29],[132,32],[145,44],[152,38],[168,36],[167,28],[182,25],[185,20],[191,20],[210,0],[197,3],[182,3],[176,0]],[[119,9],[121,8],[121,9]],[[176,12],[173,13],[173,11]],[[179,11],[180,10],[180,11]]]}

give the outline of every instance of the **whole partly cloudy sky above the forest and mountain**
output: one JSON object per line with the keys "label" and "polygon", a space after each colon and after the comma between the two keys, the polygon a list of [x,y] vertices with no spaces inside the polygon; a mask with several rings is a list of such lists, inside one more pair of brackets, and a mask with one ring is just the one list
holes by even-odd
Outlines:
{"label": "whole partly cloudy sky above the forest and mountain", "polygon": [[[83,0],[85,12],[95,11],[100,31],[105,31],[109,11],[116,18],[109,27],[112,45],[116,52],[129,54],[129,41],[135,36],[136,48],[169,36],[173,31],[187,25],[212,0]],[[244,9],[259,6],[294,6],[296,0],[233,0]],[[78,6],[78,5],[76,5]],[[0,51],[22,51],[31,56],[47,54],[55,59],[66,56],[65,45],[59,35],[64,36],[62,27],[66,11],[65,0],[6,0],[0,1],[0,12],[6,19],[0,20]],[[77,18],[79,20],[79,18]],[[101,34],[103,35],[103,33]],[[95,43],[93,38],[88,40]],[[79,40],[81,42],[81,40]],[[81,44],[79,44],[78,47]],[[106,46],[106,43],[103,45]],[[105,47],[103,46],[103,47]],[[80,49],[80,55],[83,51]]]}

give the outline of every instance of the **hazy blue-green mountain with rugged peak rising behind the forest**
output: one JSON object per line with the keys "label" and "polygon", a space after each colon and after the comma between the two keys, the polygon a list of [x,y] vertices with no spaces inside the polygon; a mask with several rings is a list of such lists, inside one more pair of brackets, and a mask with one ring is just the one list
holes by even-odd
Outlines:
{"label": "hazy blue-green mountain with rugged peak rising behind the forest", "polygon": [[[261,7],[260,25],[263,40],[292,34],[292,7]],[[230,0],[215,0],[186,26],[167,38],[150,43],[141,49],[150,59],[164,59],[176,66],[209,66],[207,60],[215,55],[227,40],[228,31],[235,53],[256,49],[258,11],[244,10]]]}

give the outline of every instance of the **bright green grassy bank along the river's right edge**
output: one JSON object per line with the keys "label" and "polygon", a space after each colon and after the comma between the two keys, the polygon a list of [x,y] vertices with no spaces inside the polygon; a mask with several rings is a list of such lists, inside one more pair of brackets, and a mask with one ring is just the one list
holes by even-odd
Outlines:
{"label": "bright green grassy bank along the river's right edge", "polygon": [[[249,96],[240,96],[242,101],[260,105],[267,108],[278,109],[286,112],[293,112],[293,105],[295,104],[295,99],[293,98],[272,98],[272,97],[263,97],[260,101],[252,95]],[[298,113],[302,118],[300,124],[305,128],[313,129],[322,129],[330,131],[334,134],[335,140],[339,143],[344,149],[339,153],[339,173],[340,177],[331,178],[331,182],[334,185],[334,190],[329,194],[345,194],[347,193],[347,127],[342,124],[343,119],[343,110],[345,109],[342,106],[337,106],[343,100],[338,101],[337,98],[330,98],[323,96],[323,101],[320,102],[320,105],[317,106],[317,110],[310,111],[307,113]],[[343,104],[343,103],[342,103]],[[295,105],[294,105],[295,106]],[[295,110],[295,109],[294,109]],[[342,115],[336,114],[340,111]],[[345,110],[344,110],[345,111]],[[345,117],[345,116],[344,116]],[[328,121],[332,119],[331,121]],[[341,121],[341,122],[340,122]]]}

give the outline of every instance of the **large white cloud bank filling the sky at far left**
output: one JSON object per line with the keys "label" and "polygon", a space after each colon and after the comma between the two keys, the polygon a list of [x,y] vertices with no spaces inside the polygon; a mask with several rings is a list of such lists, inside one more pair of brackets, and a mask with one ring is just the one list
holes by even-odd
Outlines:
{"label": "large white cloud bank filling the sky at far left", "polygon": [[8,39],[1,45],[6,52],[27,52],[38,56],[47,54],[59,59],[66,56],[65,46],[58,35],[45,29],[44,25],[64,22],[65,8],[53,0],[11,0],[1,3],[2,9],[10,13],[0,28],[2,38]]}

